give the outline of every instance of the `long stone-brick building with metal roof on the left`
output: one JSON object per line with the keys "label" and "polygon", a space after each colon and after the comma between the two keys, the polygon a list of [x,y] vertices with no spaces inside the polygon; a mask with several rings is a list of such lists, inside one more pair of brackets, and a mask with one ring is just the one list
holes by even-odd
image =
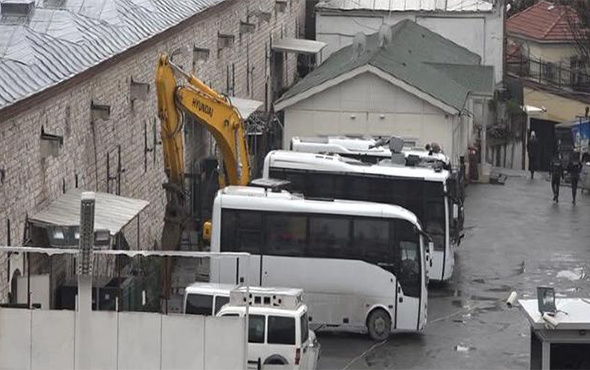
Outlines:
{"label": "long stone-brick building with metal roof on the left", "polygon": [[[131,249],[157,247],[159,53],[188,50],[174,59],[185,70],[266,107],[295,79],[296,56],[272,43],[303,34],[304,0],[88,3],[0,1],[0,245],[23,244],[27,217],[80,188],[149,201],[123,233]],[[190,169],[213,145],[200,127],[185,133]],[[23,272],[22,258],[0,254],[0,302],[8,269]]]}

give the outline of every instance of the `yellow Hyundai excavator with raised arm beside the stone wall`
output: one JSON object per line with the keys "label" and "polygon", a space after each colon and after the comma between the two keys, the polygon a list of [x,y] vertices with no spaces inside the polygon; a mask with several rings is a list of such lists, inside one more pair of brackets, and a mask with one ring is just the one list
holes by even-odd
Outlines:
{"label": "yellow Hyundai excavator with raised arm beside the stone wall", "polygon": [[[222,163],[219,170],[219,188],[226,185],[247,185],[250,181],[250,163],[245,137],[244,121],[227,96],[217,93],[194,75],[184,72],[173,63],[167,53],[160,55],[156,67],[156,93],[160,118],[164,166],[168,182],[166,211],[162,230],[162,250],[175,250],[188,217],[185,211],[184,192],[184,141],[183,115],[193,117],[204,125],[215,139]],[[177,77],[184,79],[179,83]],[[210,223],[205,223],[203,237],[210,234]],[[168,298],[171,266],[166,261],[162,289]]]}

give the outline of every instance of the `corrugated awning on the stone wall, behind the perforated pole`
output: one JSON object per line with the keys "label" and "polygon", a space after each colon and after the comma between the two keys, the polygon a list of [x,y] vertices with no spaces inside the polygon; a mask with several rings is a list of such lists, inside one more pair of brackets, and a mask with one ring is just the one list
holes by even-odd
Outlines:
{"label": "corrugated awning on the stone wall, behind the perforated pole", "polygon": [[[80,199],[83,191],[68,191],[44,210],[29,217],[29,222],[38,226],[80,226]],[[141,199],[99,192],[95,193],[95,199],[94,229],[109,230],[113,236],[149,204]]]}

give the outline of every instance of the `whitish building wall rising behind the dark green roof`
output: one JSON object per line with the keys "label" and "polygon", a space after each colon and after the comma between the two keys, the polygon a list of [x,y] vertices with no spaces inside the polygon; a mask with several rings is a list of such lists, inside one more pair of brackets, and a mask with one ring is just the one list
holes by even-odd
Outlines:
{"label": "whitish building wall rising behind the dark green roof", "polygon": [[[359,14],[356,12],[355,14]],[[334,51],[352,43],[358,32],[375,33],[382,24],[394,25],[410,19],[454,41],[482,58],[482,65],[494,67],[495,82],[502,81],[503,64],[503,11],[480,13],[418,13],[368,12],[362,16],[349,14],[316,14],[316,39],[328,44],[322,51],[322,60]]]}

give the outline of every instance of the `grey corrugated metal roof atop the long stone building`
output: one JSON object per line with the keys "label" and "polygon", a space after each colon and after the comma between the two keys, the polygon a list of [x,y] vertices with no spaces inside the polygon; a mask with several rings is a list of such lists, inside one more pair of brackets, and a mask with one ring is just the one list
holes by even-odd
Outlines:
{"label": "grey corrugated metal roof atop the long stone building", "polygon": [[[37,0],[0,16],[0,109],[225,0]],[[0,9],[2,0],[0,0]]]}

